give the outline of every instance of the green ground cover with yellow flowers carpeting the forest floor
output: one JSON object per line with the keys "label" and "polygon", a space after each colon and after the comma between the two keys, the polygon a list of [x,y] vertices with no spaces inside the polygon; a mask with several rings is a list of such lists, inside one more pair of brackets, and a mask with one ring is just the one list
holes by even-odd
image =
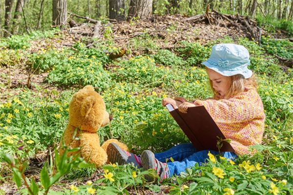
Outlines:
{"label": "green ground cover with yellow flowers carpeting the forest floor", "polygon": [[[58,36],[63,35],[53,37]],[[0,44],[0,57],[2,51],[16,56],[13,61],[0,61],[1,68],[14,68],[17,63],[23,70],[36,70],[36,75],[46,73],[40,85],[5,88],[0,97],[0,193],[293,194],[293,73],[290,67],[282,68],[274,55],[292,59],[292,42],[263,36],[258,44],[225,37],[204,43],[182,41],[180,47],[166,50],[146,36],[130,41],[127,56],[109,59],[109,53],[120,46],[112,37],[109,31],[108,38],[93,48],[81,39],[62,49],[42,47],[39,53],[30,53],[27,36]],[[9,46],[14,39],[20,39],[19,45]],[[220,42],[242,44],[251,54],[250,68],[257,74],[266,113],[263,144],[253,147],[258,151],[255,155],[235,161],[210,155],[204,166],[192,167],[163,183],[147,183],[144,176],[155,176],[152,170],[117,164],[95,169],[79,156],[68,158],[54,152],[67,124],[70,98],[87,84],[102,95],[114,116],[110,125],[98,131],[101,143],[118,138],[140,153],[145,149],[161,152],[187,142],[161,100],[210,97],[200,63],[209,57],[211,46]],[[150,50],[145,51],[146,47]],[[133,54],[136,50],[138,55]]]}

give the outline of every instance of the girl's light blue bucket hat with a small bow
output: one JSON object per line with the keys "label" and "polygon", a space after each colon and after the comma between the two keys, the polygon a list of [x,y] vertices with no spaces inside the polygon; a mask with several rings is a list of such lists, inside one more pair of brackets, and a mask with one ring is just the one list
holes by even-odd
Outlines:
{"label": "girl's light blue bucket hat with a small bow", "polygon": [[250,78],[252,71],[247,68],[250,64],[249,52],[242,45],[221,43],[212,46],[209,59],[202,64],[224,76],[243,75]]}

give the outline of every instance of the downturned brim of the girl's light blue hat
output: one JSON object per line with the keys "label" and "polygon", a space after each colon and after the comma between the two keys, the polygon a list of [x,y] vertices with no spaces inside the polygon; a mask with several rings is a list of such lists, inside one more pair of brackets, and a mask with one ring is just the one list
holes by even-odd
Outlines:
{"label": "downturned brim of the girl's light blue hat", "polygon": [[207,66],[209,69],[216,71],[220,75],[223,75],[226,77],[230,77],[230,76],[238,75],[238,74],[243,75],[244,78],[251,78],[251,76],[252,76],[252,71],[248,68],[246,68],[245,70],[232,70],[231,71],[231,70],[226,70],[225,68],[222,68],[219,66],[212,65],[211,63],[209,63],[209,61],[204,61],[204,62],[202,62],[202,64]]}

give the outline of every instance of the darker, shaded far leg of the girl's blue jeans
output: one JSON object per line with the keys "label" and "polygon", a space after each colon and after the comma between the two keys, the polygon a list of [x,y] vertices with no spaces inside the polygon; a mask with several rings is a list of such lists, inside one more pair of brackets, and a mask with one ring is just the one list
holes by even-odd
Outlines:
{"label": "darker, shaded far leg of the girl's blue jeans", "polygon": [[168,149],[167,151],[161,153],[155,153],[155,158],[157,158],[161,162],[170,161],[170,157],[173,158],[174,161],[181,161],[184,158],[191,156],[192,154],[196,153],[196,148],[192,145],[192,143],[182,143],[177,146],[173,146],[172,148]]}

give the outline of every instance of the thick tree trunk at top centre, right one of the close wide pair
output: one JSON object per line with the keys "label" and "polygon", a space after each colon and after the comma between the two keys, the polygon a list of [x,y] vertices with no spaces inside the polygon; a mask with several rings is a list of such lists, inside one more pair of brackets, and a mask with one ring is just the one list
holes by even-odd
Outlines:
{"label": "thick tree trunk at top centre, right one of the close wide pair", "polygon": [[130,0],[128,19],[138,17],[141,20],[152,16],[152,0]]}

